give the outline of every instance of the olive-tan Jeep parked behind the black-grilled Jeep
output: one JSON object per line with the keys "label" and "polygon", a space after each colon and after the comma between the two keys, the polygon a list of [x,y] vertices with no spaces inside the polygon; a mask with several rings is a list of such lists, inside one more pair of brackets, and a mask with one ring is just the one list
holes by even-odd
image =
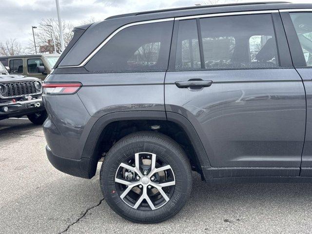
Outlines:
{"label": "olive-tan Jeep parked behind the black-grilled Jeep", "polygon": [[17,55],[0,57],[4,66],[10,67],[11,75],[24,75],[44,80],[52,71],[59,55]]}

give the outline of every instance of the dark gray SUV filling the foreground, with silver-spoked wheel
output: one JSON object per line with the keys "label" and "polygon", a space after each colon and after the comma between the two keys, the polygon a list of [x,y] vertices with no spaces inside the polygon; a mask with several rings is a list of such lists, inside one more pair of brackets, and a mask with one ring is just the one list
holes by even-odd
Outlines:
{"label": "dark gray SUV filling the foreground, with silver-spoked wheel", "polygon": [[312,182],[312,4],[132,13],[75,28],[43,84],[50,162],[161,222],[208,183]]}

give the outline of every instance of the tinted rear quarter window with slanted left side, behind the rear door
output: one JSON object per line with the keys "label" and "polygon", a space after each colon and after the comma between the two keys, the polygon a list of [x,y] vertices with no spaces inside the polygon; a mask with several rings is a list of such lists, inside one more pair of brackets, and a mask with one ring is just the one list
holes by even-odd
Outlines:
{"label": "tinted rear quarter window with slanted left side, behind the rear door", "polygon": [[159,71],[168,67],[173,21],[123,29],[86,64],[93,72]]}

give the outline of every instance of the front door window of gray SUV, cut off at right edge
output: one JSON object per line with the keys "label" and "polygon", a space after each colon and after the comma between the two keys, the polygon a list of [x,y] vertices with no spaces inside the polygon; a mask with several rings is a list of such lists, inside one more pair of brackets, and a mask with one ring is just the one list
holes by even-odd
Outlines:
{"label": "front door window of gray SUV, cut off at right edge", "polygon": [[312,13],[291,13],[307,66],[312,66]]}

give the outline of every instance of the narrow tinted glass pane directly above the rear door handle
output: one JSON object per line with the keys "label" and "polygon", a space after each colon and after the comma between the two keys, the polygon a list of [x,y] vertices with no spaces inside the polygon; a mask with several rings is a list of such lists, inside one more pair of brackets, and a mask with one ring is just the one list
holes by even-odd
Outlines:
{"label": "narrow tinted glass pane directly above the rear door handle", "polygon": [[196,20],[179,22],[176,44],[176,69],[200,69],[200,55]]}

